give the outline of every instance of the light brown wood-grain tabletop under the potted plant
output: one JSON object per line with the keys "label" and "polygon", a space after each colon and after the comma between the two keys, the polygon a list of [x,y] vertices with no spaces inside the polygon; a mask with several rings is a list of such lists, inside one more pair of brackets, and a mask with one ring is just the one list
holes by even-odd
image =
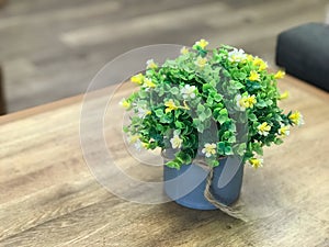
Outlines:
{"label": "light brown wood-grain tabletop under the potted plant", "polygon": [[[291,77],[280,87],[291,91],[283,106],[300,110],[306,125],[266,149],[262,169],[246,167],[248,222],[107,192],[82,157],[82,96],[1,116],[0,246],[329,246],[329,97]],[[109,97],[98,93],[95,105]],[[109,149],[127,172],[158,179],[161,168],[139,172],[121,155],[121,117],[105,117]]]}

